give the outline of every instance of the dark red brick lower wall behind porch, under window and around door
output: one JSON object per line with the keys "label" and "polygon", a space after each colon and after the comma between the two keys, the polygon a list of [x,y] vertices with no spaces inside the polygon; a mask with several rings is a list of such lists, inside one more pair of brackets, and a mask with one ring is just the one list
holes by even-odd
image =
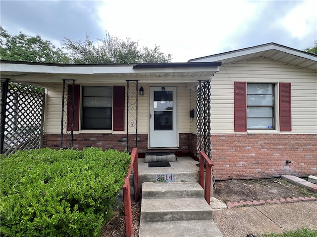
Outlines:
{"label": "dark red brick lower wall behind porch, under window and around door", "polygon": [[[111,134],[111,133],[80,133],[73,135],[73,148],[83,149],[86,147],[99,147],[103,150],[109,148],[124,151],[126,149],[126,134]],[[69,147],[69,134],[63,135],[63,146]],[[129,144],[135,147],[135,134],[129,134]],[[130,140],[131,139],[131,140]],[[60,148],[60,134],[44,134],[43,147],[53,149]],[[179,134],[179,149],[168,150],[174,152],[176,156],[189,156],[191,148],[191,134]],[[132,148],[131,148],[132,150]],[[164,149],[148,149],[148,134],[138,134],[138,153],[142,154],[148,151],[166,151]],[[140,156],[139,156],[140,157]]]}

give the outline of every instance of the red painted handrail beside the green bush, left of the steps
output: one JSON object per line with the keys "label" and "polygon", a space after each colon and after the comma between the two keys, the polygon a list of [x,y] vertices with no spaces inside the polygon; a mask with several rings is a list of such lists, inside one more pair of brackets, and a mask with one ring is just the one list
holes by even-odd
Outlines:
{"label": "red painted handrail beside the green bush, left of the steps", "polygon": [[134,200],[137,202],[140,198],[139,186],[139,168],[138,168],[138,149],[133,148],[131,153],[131,164],[129,166],[128,174],[124,177],[125,183],[121,188],[123,191],[124,204],[124,220],[125,220],[125,235],[126,237],[133,236],[132,227],[132,208],[131,208],[131,193],[130,193],[130,175],[133,167],[134,177]]}

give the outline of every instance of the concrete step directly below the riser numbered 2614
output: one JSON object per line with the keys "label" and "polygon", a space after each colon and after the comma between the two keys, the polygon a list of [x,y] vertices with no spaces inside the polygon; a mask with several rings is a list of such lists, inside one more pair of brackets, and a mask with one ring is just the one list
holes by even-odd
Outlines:
{"label": "concrete step directly below the riser numbered 2614", "polygon": [[204,189],[196,182],[154,183],[142,185],[142,198],[204,197]]}

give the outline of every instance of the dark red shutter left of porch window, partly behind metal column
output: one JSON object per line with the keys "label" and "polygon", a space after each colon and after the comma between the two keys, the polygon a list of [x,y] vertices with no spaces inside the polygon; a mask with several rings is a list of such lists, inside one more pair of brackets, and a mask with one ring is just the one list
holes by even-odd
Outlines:
{"label": "dark red shutter left of porch window, partly behind metal column", "polygon": [[[74,131],[79,130],[79,99],[80,99],[80,85],[75,85],[74,93]],[[67,131],[71,131],[71,109],[72,109],[72,93],[73,85],[67,87]]]}

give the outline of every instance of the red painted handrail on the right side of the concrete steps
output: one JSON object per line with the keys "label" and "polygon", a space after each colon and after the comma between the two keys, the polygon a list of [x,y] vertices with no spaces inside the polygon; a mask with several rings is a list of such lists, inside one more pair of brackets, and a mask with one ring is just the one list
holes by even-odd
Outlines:
{"label": "red painted handrail on the right side of the concrete steps", "polygon": [[[204,160],[206,160],[206,180],[204,188]],[[199,184],[205,190],[205,200],[210,203],[211,166],[213,163],[204,151],[199,152]]]}

